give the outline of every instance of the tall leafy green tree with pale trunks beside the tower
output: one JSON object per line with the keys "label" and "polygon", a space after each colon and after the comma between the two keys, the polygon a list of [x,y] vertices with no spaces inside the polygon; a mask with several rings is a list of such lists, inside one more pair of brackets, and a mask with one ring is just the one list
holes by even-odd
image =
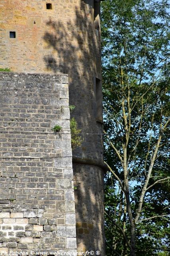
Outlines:
{"label": "tall leafy green tree with pale trunks beside the tower", "polygon": [[168,255],[167,0],[102,3],[109,255]]}

